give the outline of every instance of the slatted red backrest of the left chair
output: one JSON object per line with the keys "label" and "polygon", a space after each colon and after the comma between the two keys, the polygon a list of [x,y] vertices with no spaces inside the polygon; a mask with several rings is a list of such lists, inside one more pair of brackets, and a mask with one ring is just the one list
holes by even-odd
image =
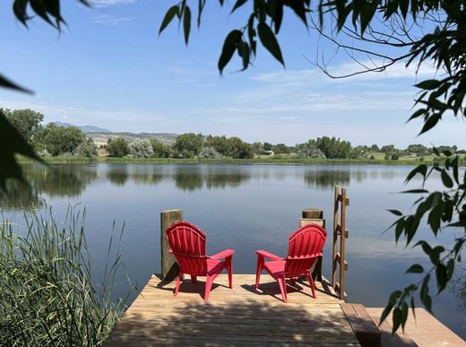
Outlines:
{"label": "slatted red backrest of the left chair", "polygon": [[165,232],[168,245],[183,273],[203,276],[207,273],[205,233],[188,221],[178,221]]}

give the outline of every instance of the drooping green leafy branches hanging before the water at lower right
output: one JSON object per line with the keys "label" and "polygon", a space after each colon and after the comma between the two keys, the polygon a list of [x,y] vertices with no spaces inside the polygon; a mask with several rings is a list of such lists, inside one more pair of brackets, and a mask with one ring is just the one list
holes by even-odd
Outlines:
{"label": "drooping green leafy branches hanging before the water at lower right", "polygon": [[[440,153],[437,152],[437,155]],[[411,283],[403,291],[393,291],[387,307],[381,317],[383,321],[393,311],[393,331],[401,325],[404,327],[406,315],[410,307],[414,308],[414,296],[419,291],[419,298],[423,305],[432,310],[432,297],[429,292],[431,278],[436,277],[437,294],[444,291],[447,283],[452,279],[454,269],[461,262],[462,249],[466,242],[466,172],[459,169],[459,157],[451,152],[443,153],[447,158],[444,165],[434,164],[431,168],[422,164],[410,171],[406,178],[408,183],[416,176],[422,177],[422,186],[419,189],[405,191],[407,194],[420,195],[416,201],[416,212],[403,215],[401,211],[390,210],[398,216],[393,223],[395,239],[401,236],[406,239],[409,246],[413,241],[419,224],[427,218],[427,224],[432,233],[437,236],[439,232],[450,232],[455,236],[452,247],[434,246],[420,239],[414,247],[422,248],[430,260],[430,268],[424,269],[419,264],[411,265],[407,273],[417,273],[421,278]],[[443,191],[430,192],[426,189],[427,178],[433,173],[440,176],[444,185]]]}

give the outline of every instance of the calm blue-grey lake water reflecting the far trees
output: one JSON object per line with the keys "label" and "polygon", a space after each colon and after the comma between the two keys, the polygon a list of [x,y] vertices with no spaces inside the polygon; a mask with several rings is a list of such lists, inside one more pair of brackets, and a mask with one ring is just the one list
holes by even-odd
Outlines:
{"label": "calm blue-grey lake water reflecting the far trees", "polygon": [[[236,250],[234,271],[255,273],[255,250],[285,256],[289,233],[298,227],[301,210],[324,209],[332,228],[333,187],[347,187],[350,196],[347,225],[346,288],[350,301],[384,307],[389,294],[409,284],[403,274],[413,263],[426,264],[417,249],[395,247],[393,222],[385,210],[408,211],[414,197],[393,194],[404,189],[412,168],[391,166],[272,166],[272,165],[87,165],[59,166],[53,170],[27,167],[26,174],[56,219],[63,220],[68,205],[87,209],[86,235],[95,270],[106,261],[112,224],[125,224],[121,250],[127,273],[139,288],[160,272],[160,211],[180,208],[185,219],[208,235],[208,253],[229,247]],[[414,182],[413,187],[417,187]],[[21,196],[22,203],[38,204],[37,196]],[[19,202],[3,202],[13,219]],[[433,240],[420,230],[419,238]],[[452,238],[452,239],[450,239]],[[450,245],[453,236],[437,240]],[[324,249],[324,273],[330,277],[331,242]],[[118,281],[124,295],[127,284]],[[435,292],[432,289],[431,292]],[[452,289],[434,299],[434,312],[462,338],[466,338],[465,311],[458,308]]]}

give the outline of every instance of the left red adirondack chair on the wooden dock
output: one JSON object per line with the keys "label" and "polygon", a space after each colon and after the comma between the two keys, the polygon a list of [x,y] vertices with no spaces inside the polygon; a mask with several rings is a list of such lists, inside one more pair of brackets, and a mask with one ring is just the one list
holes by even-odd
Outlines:
{"label": "left red adirondack chair on the wooden dock", "polygon": [[[196,282],[197,276],[205,276],[204,301],[209,299],[213,280],[227,269],[229,274],[229,288],[232,283],[232,258],[233,249],[225,249],[214,256],[205,255],[205,233],[194,224],[187,221],[178,221],[172,224],[166,231],[170,253],[177,257],[179,274],[174,296],[177,296],[183,274],[191,275],[191,281]],[[225,259],[225,260],[222,260]]]}

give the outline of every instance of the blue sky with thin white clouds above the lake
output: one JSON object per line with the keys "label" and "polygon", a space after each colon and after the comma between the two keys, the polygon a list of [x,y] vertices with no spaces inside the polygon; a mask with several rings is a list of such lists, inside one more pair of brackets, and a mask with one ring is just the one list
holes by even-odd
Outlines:
{"label": "blue sky with thin white clouds above the lake", "polygon": [[[0,108],[33,108],[45,122],[92,125],[115,132],[203,133],[247,142],[293,145],[319,136],[357,144],[456,144],[466,148],[464,120],[445,117],[420,136],[406,124],[418,92],[413,84],[435,75],[426,67],[395,65],[384,73],[331,79],[313,63],[334,47],[289,12],[278,35],[283,68],[263,48],[239,72],[235,57],[223,76],[217,60],[230,30],[245,25],[247,9],[229,14],[208,2],[186,47],[177,23],[159,36],[176,1],[95,0],[93,8],[62,1],[61,33],[33,19],[29,29],[1,2],[0,73],[34,91],[0,89]],[[196,11],[197,1],[190,1]],[[233,3],[230,1],[230,3]],[[362,60],[365,57],[361,57]],[[332,59],[332,74],[358,69],[349,56]]]}

